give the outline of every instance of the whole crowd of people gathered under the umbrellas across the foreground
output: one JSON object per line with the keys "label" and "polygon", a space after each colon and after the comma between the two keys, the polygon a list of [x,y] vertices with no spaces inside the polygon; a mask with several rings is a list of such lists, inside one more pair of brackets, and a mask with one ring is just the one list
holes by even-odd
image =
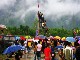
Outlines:
{"label": "whole crowd of people gathered under the umbrellas across the foreground", "polygon": [[[74,43],[74,44],[73,44]],[[15,45],[21,44],[25,46],[25,50],[19,50],[15,53],[15,60],[34,50],[34,60],[41,60],[41,55],[44,55],[44,60],[80,60],[80,45],[76,42],[68,42],[62,40],[39,40],[38,42],[16,40]],[[26,52],[27,51],[27,52]]]}

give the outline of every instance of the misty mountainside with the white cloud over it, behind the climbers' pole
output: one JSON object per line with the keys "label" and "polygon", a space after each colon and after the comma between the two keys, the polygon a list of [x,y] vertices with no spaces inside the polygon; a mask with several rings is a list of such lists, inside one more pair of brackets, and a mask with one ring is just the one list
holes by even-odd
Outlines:
{"label": "misty mountainside with the white cloud over it, behind the climbers' pole", "polygon": [[[79,0],[40,0],[39,3],[49,28],[80,28]],[[38,10],[37,0],[11,0],[0,7],[0,24],[32,27]]]}

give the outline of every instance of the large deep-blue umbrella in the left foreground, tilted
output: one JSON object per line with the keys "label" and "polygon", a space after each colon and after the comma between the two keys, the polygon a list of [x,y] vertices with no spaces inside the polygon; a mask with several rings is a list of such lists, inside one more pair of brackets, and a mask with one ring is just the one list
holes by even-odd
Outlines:
{"label": "large deep-blue umbrella in the left foreground, tilted", "polygon": [[10,54],[12,52],[16,52],[21,49],[24,49],[24,47],[21,45],[11,45],[4,50],[3,54]]}

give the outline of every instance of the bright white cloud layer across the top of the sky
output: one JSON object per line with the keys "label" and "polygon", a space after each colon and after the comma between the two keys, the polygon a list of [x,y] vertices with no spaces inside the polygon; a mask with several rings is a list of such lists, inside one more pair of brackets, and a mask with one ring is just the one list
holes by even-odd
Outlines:
{"label": "bright white cloud layer across the top of the sky", "polygon": [[[14,6],[17,1],[20,1],[19,9],[15,11],[14,15],[20,16],[22,19],[27,13],[38,10],[46,16],[57,15],[57,17],[80,12],[79,0],[1,0],[0,9]],[[38,3],[40,4],[39,8],[37,7]]]}

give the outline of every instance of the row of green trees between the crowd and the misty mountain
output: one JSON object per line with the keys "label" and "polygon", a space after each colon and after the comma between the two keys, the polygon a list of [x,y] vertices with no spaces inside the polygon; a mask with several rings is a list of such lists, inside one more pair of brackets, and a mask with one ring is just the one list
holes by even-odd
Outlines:
{"label": "row of green trees between the crowd and the misty mountain", "polygon": [[[78,32],[77,32],[78,30]],[[80,30],[76,29],[77,35],[80,35]],[[2,33],[0,31],[0,33]],[[19,27],[7,27],[6,30],[4,30],[4,34],[12,34],[12,35],[30,35],[35,36],[36,35],[36,28],[30,28],[29,26],[23,26],[20,25]],[[46,36],[61,36],[61,37],[67,37],[67,36],[73,36],[73,30],[67,30],[64,28],[48,28],[47,33],[43,31],[43,29],[40,29],[39,32],[40,35],[46,35]]]}

